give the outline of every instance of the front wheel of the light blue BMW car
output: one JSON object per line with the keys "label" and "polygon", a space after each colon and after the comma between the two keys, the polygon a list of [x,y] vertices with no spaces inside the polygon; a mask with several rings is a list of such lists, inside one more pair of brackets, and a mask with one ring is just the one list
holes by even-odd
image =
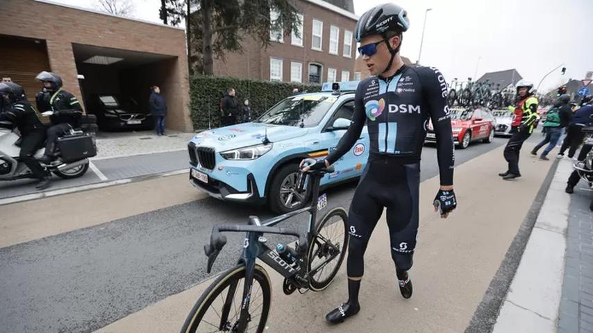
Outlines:
{"label": "front wheel of the light blue BMW car", "polygon": [[269,207],[278,214],[299,210],[308,203],[310,186],[297,191],[299,164],[292,163],[278,169],[269,190]]}

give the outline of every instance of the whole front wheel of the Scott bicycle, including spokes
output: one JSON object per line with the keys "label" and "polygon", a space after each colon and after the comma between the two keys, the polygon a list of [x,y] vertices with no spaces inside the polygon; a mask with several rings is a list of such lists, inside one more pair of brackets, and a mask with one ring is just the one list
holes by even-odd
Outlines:
{"label": "whole front wheel of the Scott bicycle, including spokes", "polygon": [[[243,265],[222,273],[202,293],[187,315],[181,333],[238,332],[244,281]],[[262,266],[256,265],[245,332],[264,332],[271,295],[269,277]]]}

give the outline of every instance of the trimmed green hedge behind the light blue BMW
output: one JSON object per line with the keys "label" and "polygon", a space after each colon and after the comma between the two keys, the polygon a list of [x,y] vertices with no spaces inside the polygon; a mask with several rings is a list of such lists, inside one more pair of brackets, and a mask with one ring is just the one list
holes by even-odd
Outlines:
{"label": "trimmed green hedge behind the light blue BMW", "polygon": [[237,102],[243,105],[249,99],[252,119],[292,94],[292,89],[299,92],[319,92],[321,85],[303,85],[297,83],[276,83],[228,78],[219,76],[192,76],[190,78],[190,108],[194,130],[211,126],[220,126],[220,99],[228,88],[235,88]]}

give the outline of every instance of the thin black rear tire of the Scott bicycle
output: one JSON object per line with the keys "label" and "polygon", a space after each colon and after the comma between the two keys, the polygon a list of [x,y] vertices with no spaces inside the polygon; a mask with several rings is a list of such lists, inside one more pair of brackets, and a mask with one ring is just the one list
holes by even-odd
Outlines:
{"label": "thin black rear tire of the Scott bicycle", "polygon": [[[348,248],[348,240],[349,240],[348,214],[346,213],[346,210],[344,210],[344,208],[335,207],[333,210],[329,211],[317,225],[317,236],[315,237],[315,239],[313,239],[313,241],[310,244],[309,249],[308,249],[307,271],[311,271],[311,268],[314,267],[314,266],[312,266],[312,263],[313,263],[313,259],[315,259],[315,257],[320,255],[321,253],[324,253],[327,250],[330,250],[328,248],[321,248],[321,246],[323,244],[327,244],[327,242],[321,238],[321,237],[324,237],[324,234],[321,234],[321,231],[326,227],[326,223],[328,223],[328,221],[330,221],[330,219],[333,216],[339,216],[340,219],[342,219],[342,221],[341,222],[337,221],[335,223],[342,223],[342,225],[344,226],[344,234],[343,234],[343,238],[342,238],[342,248],[340,250],[340,254],[336,258],[331,260],[331,262],[328,262],[328,264],[331,264],[332,262],[335,262],[335,260],[337,259],[337,262],[335,264],[335,267],[333,268],[333,271],[331,271],[330,275],[328,275],[327,278],[325,278],[324,280],[318,281],[318,280],[316,280],[315,275],[312,275],[310,277],[309,287],[312,291],[322,291],[322,290],[326,289],[331,284],[331,282],[335,278],[335,275],[337,274],[337,271],[340,270],[340,266],[342,266],[342,262],[344,261],[344,256],[346,255],[346,248]],[[327,237],[324,237],[324,238],[327,238]],[[330,239],[330,241],[332,241],[332,239]],[[314,251],[316,245],[317,245],[317,251]],[[330,252],[331,252],[331,250],[330,250]],[[326,264],[326,266],[328,264]],[[321,271],[319,271],[318,273],[322,273],[326,266],[324,266],[324,268],[321,268]]]}

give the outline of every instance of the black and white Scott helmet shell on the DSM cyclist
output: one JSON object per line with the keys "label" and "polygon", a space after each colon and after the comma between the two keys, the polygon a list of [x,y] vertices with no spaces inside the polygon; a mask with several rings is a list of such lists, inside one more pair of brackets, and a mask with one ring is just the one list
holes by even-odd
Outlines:
{"label": "black and white Scott helmet shell on the DSM cyclist", "polygon": [[409,27],[408,12],[394,3],[385,3],[362,14],[356,22],[354,38],[360,42],[367,36],[384,35],[387,31],[399,33],[407,31]]}

